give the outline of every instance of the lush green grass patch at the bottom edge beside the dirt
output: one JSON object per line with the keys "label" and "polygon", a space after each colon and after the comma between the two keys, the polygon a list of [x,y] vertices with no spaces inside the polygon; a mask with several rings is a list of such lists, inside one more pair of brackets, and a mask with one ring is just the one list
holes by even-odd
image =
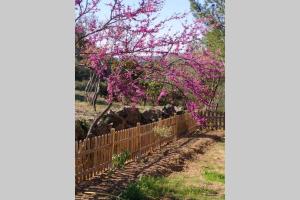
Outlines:
{"label": "lush green grass patch at the bottom edge beside the dirt", "polygon": [[[122,199],[216,199],[217,192],[211,189],[185,186],[180,179],[168,177],[142,177],[131,183],[121,194]],[[214,197],[215,198],[212,198]]]}

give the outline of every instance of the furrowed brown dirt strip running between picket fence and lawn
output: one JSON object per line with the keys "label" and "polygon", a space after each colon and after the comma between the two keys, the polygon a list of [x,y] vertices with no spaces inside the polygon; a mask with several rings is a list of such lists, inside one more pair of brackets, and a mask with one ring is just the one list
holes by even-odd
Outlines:
{"label": "furrowed brown dirt strip running between picket fence and lawn", "polygon": [[109,175],[104,173],[76,186],[76,200],[111,199],[141,175],[167,176],[184,170],[187,162],[204,154],[218,141],[224,140],[224,131],[193,133],[157,149],[141,159],[128,163],[124,169]]}

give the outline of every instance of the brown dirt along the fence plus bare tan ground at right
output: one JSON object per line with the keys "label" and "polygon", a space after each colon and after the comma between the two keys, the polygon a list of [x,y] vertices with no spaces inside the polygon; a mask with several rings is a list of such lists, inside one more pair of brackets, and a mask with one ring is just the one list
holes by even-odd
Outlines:
{"label": "brown dirt along the fence plus bare tan ground at right", "polygon": [[[113,199],[109,195],[118,195],[140,176],[176,176],[176,173],[184,173],[190,178],[199,177],[199,183],[224,194],[224,185],[201,180],[201,172],[196,170],[202,166],[203,169],[209,167],[224,173],[224,146],[219,144],[222,141],[224,131],[198,131],[186,135],[161,149],[154,150],[139,161],[128,163],[122,170],[113,174],[103,173],[76,185],[75,199]],[[214,150],[210,151],[211,149]],[[210,163],[214,166],[209,166]]]}

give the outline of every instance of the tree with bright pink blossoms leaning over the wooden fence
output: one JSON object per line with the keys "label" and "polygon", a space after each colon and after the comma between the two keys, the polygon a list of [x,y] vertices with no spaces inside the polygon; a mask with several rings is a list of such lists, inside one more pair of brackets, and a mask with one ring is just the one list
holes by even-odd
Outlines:
{"label": "tree with bright pink blossoms leaning over the wooden fence", "polygon": [[[93,95],[87,99],[95,105],[101,82],[108,91],[108,106],[95,117],[88,135],[114,101],[135,105],[147,98],[145,82],[149,81],[163,85],[158,101],[178,91],[195,120],[203,123],[198,111],[212,107],[214,92],[209,83],[224,75],[224,64],[195,45],[205,34],[205,19],[184,23],[176,34],[161,33],[168,22],[186,16],[158,21],[162,5],[163,0],[140,0],[136,7],[123,0],[105,5],[100,0],[75,1],[76,57],[83,58],[93,72],[86,88]],[[106,20],[99,19],[103,6],[110,10]]]}

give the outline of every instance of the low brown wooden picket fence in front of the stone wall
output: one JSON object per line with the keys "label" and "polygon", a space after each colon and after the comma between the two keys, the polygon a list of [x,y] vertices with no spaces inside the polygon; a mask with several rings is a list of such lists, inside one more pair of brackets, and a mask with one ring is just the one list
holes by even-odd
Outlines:
{"label": "low brown wooden picket fence in front of the stone wall", "polygon": [[[125,150],[130,152],[130,160],[137,159],[158,147],[162,143],[177,139],[178,136],[200,129],[225,129],[224,113],[202,112],[207,123],[199,127],[190,113],[174,115],[154,123],[140,125],[120,131],[111,130],[109,134],[87,138],[75,143],[75,179],[76,183],[89,180],[112,167],[113,155]],[[167,138],[158,138],[154,127],[171,127],[172,134]]]}

